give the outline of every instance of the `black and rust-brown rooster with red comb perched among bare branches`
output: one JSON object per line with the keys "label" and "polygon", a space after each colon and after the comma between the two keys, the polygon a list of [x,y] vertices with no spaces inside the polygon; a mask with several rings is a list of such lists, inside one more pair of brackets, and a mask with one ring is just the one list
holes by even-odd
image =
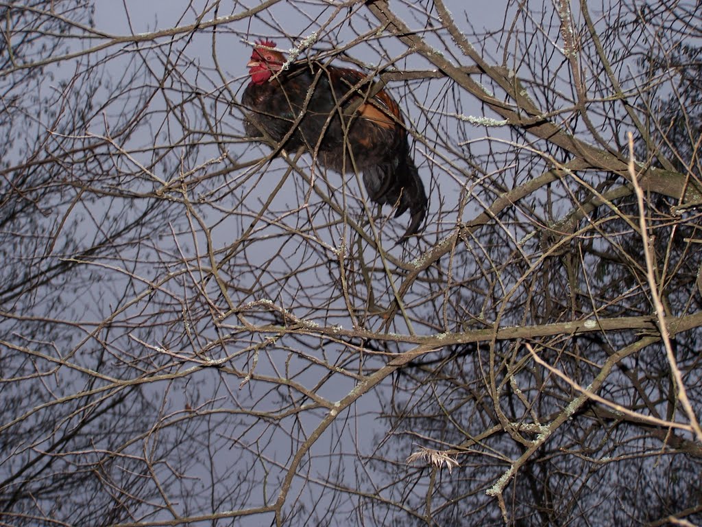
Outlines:
{"label": "black and rust-brown rooster with red comb perched among bare branches", "polygon": [[324,167],[362,171],[371,200],[396,206],[395,217],[409,210],[401,241],[418,233],[427,196],[395,100],[356,70],[314,60],[284,69],[286,60],[274,48],[259,41],[246,65],[251,82],[242,103],[253,111],[246,132],[260,136],[258,125],[286,148],[305,146]]}

